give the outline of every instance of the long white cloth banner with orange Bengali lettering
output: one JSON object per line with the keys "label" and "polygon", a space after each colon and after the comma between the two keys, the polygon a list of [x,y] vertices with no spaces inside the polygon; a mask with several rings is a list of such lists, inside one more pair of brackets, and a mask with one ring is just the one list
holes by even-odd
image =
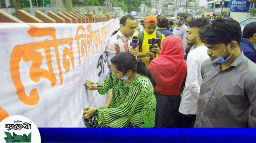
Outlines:
{"label": "long white cloth banner with orange Bengali lettering", "polygon": [[85,91],[105,79],[105,45],[119,19],[92,24],[0,23],[0,121],[22,115],[37,127],[85,127],[82,110],[107,95]]}

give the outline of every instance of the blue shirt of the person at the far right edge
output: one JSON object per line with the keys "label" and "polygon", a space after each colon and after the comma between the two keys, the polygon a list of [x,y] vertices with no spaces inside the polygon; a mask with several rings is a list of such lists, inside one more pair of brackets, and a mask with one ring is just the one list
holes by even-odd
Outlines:
{"label": "blue shirt of the person at the far right edge", "polygon": [[242,38],[242,42],[240,43],[239,47],[242,49],[245,57],[252,60],[253,62],[256,62],[255,49],[251,42]]}

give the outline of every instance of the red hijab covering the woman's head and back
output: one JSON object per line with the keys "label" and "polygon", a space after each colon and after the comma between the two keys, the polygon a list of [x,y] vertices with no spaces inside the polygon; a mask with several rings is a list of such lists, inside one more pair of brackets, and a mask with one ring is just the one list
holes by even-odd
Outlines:
{"label": "red hijab covering the woman's head and back", "polygon": [[167,36],[163,40],[160,55],[148,66],[156,79],[155,91],[162,95],[180,95],[186,75],[184,48],[179,36]]}

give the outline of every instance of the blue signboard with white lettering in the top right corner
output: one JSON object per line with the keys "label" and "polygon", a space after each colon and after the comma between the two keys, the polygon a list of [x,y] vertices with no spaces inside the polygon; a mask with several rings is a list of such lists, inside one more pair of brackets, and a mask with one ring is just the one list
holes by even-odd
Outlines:
{"label": "blue signboard with white lettering in the top right corner", "polygon": [[230,0],[228,7],[232,12],[247,12],[250,7],[248,0]]}

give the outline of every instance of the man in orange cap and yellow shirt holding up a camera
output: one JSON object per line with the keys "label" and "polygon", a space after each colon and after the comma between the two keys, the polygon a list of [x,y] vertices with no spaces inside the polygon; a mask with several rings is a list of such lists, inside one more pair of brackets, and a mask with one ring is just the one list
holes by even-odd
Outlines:
{"label": "man in orange cap and yellow shirt holding up a camera", "polygon": [[[149,15],[145,19],[143,38],[137,34],[141,46],[139,46],[138,58],[145,63],[147,68],[150,63],[150,58],[153,59],[159,55],[160,49],[162,48],[162,42],[165,36],[159,32],[156,34],[157,19],[154,15]],[[157,38],[161,37],[161,38]],[[153,46],[151,46],[153,45]],[[154,53],[155,52],[155,53]]]}

